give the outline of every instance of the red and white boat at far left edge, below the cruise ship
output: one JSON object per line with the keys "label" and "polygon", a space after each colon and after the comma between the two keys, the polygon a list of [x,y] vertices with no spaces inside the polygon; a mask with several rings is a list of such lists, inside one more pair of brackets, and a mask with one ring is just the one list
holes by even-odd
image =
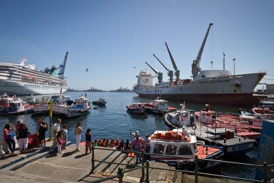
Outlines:
{"label": "red and white boat at far left edge, below the cruise ship", "polygon": [[34,105],[30,105],[21,98],[9,97],[6,93],[0,97],[0,114],[20,114],[24,112],[32,112]]}

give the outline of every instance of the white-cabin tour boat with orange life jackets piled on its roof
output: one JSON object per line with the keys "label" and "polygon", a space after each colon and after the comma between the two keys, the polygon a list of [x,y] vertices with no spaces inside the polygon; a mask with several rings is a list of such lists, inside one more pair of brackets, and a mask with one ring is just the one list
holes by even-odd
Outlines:
{"label": "white-cabin tour boat with orange life jackets piled on its roof", "polygon": [[222,160],[223,147],[204,145],[203,141],[197,141],[196,136],[190,134],[190,130],[184,130],[184,128],[172,131],[157,130],[149,137],[149,143],[151,145],[150,160],[166,162],[176,169],[194,171],[194,158],[195,154],[198,154],[199,171],[221,173],[221,162],[207,160]]}

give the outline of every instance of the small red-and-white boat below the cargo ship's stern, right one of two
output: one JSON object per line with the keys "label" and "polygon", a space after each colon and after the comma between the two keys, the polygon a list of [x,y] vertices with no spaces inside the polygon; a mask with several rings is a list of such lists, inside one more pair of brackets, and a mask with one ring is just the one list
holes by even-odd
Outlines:
{"label": "small red-and-white boat below the cargo ship's stern, right one of two", "polygon": [[153,112],[156,114],[164,114],[166,112],[171,112],[177,110],[177,108],[173,108],[167,105],[168,101],[160,99],[159,97],[150,103],[145,103],[145,108],[147,112]]}

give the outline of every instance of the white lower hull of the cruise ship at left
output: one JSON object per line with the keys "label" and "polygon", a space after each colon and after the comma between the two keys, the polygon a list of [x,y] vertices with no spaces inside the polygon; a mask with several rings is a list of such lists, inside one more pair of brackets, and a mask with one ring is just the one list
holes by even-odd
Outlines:
{"label": "white lower hull of the cruise ship at left", "polygon": [[0,93],[8,93],[9,95],[54,95],[66,93],[66,90],[66,86],[49,86],[0,80]]}

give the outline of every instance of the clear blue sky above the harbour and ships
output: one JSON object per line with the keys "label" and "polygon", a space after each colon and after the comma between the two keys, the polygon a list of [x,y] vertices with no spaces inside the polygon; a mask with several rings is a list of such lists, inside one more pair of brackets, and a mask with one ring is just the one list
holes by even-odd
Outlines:
{"label": "clear blue sky above the harbour and ships", "polygon": [[[70,88],[132,88],[145,62],[166,71],[155,53],[173,69],[169,45],[181,78],[190,78],[209,23],[201,68],[236,74],[266,70],[262,82],[274,83],[274,1],[0,1],[0,60],[59,66]],[[134,69],[134,66],[136,69]],[[89,68],[86,73],[86,68]],[[151,71],[152,72],[152,71]],[[156,82],[156,80],[155,80]]]}

